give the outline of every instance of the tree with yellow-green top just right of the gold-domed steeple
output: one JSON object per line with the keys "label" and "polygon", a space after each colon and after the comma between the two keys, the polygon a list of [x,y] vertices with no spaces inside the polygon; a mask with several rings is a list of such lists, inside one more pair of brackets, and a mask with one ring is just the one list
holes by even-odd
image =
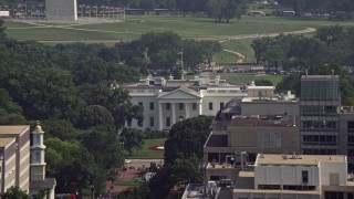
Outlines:
{"label": "tree with yellow-green top just right of the gold-domed steeple", "polygon": [[82,196],[82,189],[91,184],[97,191],[103,190],[107,174],[79,142],[48,138],[45,145],[46,174],[56,178],[58,191],[79,191]]}

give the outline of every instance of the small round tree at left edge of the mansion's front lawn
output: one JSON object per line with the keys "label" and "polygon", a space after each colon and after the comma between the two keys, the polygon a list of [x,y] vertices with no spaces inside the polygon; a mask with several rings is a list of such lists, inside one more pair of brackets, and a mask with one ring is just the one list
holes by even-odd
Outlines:
{"label": "small round tree at left edge of the mansion's front lawn", "polygon": [[121,142],[123,142],[124,148],[132,156],[133,150],[138,150],[144,144],[144,134],[139,129],[123,128],[121,134]]}

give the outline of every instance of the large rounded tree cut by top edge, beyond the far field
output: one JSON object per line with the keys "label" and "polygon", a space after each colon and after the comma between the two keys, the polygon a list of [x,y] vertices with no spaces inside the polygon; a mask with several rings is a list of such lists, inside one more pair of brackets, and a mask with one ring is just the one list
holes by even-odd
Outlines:
{"label": "large rounded tree cut by top edge, beyond the far field", "polygon": [[216,22],[228,23],[230,19],[239,19],[246,13],[246,0],[208,0],[206,13]]}

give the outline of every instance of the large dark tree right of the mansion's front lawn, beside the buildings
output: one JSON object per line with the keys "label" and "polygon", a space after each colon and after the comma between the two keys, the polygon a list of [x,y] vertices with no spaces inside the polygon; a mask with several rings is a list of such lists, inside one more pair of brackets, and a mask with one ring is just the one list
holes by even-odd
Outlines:
{"label": "large dark tree right of the mansion's front lawn, beside the buildings", "polygon": [[202,158],[202,146],[210,133],[212,117],[198,116],[176,123],[165,142],[165,164],[177,158]]}

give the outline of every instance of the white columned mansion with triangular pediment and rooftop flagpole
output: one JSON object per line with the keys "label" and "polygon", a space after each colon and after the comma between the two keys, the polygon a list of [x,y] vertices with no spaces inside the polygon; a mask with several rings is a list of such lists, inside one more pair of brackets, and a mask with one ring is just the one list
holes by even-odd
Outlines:
{"label": "white columned mansion with triangular pediment and rooftop flagpole", "polygon": [[144,122],[126,124],[144,130],[167,130],[178,121],[198,115],[216,115],[227,102],[247,96],[244,87],[232,85],[217,76],[194,80],[169,80],[147,76],[136,84],[123,86],[132,103],[144,107]]}

